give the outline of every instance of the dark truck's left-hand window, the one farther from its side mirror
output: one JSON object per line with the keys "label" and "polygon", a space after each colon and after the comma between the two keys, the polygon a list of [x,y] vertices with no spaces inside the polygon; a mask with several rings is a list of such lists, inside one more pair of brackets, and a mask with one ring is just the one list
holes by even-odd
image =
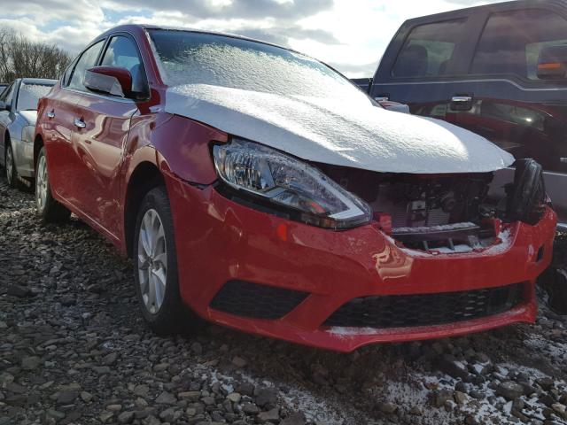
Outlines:
{"label": "dark truck's left-hand window, the one farther from its side mirror", "polygon": [[466,20],[447,20],[412,29],[392,68],[392,77],[447,75]]}

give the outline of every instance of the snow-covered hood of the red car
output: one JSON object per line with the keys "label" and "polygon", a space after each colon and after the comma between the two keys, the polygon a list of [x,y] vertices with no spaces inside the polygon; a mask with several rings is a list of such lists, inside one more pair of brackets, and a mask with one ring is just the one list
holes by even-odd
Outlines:
{"label": "snow-covered hood of the red car", "polygon": [[[276,81],[275,81],[276,84]],[[167,89],[167,112],[308,161],[377,172],[489,172],[514,162],[484,137],[441,120],[348,99],[283,96],[205,84]]]}

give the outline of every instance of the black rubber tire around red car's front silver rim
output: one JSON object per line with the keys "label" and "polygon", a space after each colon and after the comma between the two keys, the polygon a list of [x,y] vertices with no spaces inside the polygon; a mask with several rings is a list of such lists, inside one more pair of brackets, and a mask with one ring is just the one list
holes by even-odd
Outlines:
{"label": "black rubber tire around red car's front silver rim", "polygon": [[[150,210],[155,210],[159,215],[159,220],[164,228],[166,236],[167,249],[167,285],[163,304],[159,307],[158,313],[150,313],[144,305],[142,298],[142,290],[140,288],[140,279],[137,264],[137,249],[140,235],[140,227],[144,214]],[[136,230],[133,237],[133,259],[134,259],[134,280],[136,285],[136,299],[139,304],[144,320],[150,328],[159,334],[167,334],[179,330],[179,318],[183,313],[183,303],[179,293],[179,278],[177,272],[177,254],[175,251],[175,235],[173,226],[173,217],[171,214],[171,206],[167,198],[167,190],[161,186],[151,189],[146,194],[137,213]]]}

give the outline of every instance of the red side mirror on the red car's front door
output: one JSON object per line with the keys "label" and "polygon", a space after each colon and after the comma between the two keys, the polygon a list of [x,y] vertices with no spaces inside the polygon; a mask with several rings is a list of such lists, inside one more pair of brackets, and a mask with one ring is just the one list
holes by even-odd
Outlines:
{"label": "red side mirror on the red car's front door", "polygon": [[132,93],[132,74],[118,66],[95,66],[85,73],[87,89],[118,97],[129,97]]}

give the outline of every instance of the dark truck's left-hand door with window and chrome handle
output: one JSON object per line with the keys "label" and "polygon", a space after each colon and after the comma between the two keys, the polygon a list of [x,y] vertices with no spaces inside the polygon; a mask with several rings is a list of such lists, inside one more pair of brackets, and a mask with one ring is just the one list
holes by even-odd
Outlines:
{"label": "dark truck's left-hand door with window and chrome handle", "polygon": [[479,31],[478,15],[456,11],[405,22],[384,53],[370,96],[408,104],[413,114],[455,122],[470,109],[470,88],[459,85]]}

